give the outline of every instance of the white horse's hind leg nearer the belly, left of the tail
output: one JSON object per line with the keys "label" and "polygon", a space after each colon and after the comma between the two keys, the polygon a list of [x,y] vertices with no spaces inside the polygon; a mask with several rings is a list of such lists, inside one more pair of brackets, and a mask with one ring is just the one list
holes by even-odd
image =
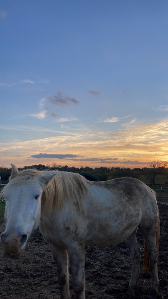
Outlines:
{"label": "white horse's hind leg nearer the belly, left of the tail", "polygon": [[136,231],[133,231],[133,233],[128,237],[125,242],[129,248],[130,251],[130,257],[132,261],[132,271],[131,271],[131,279],[130,279],[130,285],[126,292],[126,295],[128,295],[129,298],[135,298],[135,291],[138,289],[138,282],[139,282],[139,267],[140,267],[140,260],[141,260],[141,249],[138,245],[137,239],[136,239]]}

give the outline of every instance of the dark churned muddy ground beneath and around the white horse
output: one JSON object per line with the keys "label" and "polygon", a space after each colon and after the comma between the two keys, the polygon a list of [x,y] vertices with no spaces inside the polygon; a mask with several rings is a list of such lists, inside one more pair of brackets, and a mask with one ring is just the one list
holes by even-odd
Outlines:
{"label": "dark churned muddy ground beneath and around the white horse", "polygon": [[[160,298],[168,298],[168,205],[159,205],[161,238],[159,253]],[[0,233],[4,230],[0,223]],[[144,240],[138,231],[141,247],[141,269],[137,299],[147,299],[151,274],[142,270]],[[85,280],[87,299],[121,299],[131,274],[130,255],[125,243],[111,248],[86,247]],[[59,299],[56,266],[47,242],[39,230],[33,232],[21,260],[4,258],[0,245],[1,299]],[[71,298],[75,299],[70,277]]]}

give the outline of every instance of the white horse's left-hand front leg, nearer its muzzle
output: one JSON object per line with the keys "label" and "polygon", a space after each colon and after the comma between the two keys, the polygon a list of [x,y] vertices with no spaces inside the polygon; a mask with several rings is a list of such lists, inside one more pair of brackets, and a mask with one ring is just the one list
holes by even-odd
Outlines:
{"label": "white horse's left-hand front leg, nearer its muzzle", "polygon": [[49,245],[57,267],[58,281],[61,294],[60,298],[70,299],[67,250],[64,248],[58,248],[52,244]]}

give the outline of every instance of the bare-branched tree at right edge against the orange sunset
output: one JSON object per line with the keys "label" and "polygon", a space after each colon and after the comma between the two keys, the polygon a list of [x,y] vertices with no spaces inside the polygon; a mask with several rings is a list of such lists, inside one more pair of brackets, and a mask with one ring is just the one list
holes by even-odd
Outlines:
{"label": "bare-branched tree at right edge against the orange sunset", "polygon": [[158,174],[166,174],[167,173],[167,162],[166,161],[155,161],[155,158],[153,161],[149,163],[149,179],[151,183],[155,184],[155,177]]}

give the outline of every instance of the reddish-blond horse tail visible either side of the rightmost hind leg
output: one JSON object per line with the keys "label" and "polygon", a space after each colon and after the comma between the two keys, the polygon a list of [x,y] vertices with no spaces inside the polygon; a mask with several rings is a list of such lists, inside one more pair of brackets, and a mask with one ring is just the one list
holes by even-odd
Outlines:
{"label": "reddish-blond horse tail visible either side of the rightmost hind leg", "polygon": [[[159,256],[159,236],[160,236],[160,218],[159,218],[159,209],[158,209],[158,225],[157,225],[157,231],[156,231],[156,247],[157,247],[157,263],[158,263],[158,256]],[[144,270],[151,271],[151,263],[149,259],[147,244],[144,241]]]}

